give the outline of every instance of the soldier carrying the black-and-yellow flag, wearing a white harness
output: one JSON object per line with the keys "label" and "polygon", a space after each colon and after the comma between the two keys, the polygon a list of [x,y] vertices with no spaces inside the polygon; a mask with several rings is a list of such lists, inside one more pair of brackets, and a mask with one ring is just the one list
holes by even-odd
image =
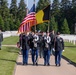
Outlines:
{"label": "soldier carrying the black-and-yellow flag, wearing a white harness", "polygon": [[51,38],[50,36],[44,37],[44,66],[48,65],[50,66],[50,43],[51,43]]}

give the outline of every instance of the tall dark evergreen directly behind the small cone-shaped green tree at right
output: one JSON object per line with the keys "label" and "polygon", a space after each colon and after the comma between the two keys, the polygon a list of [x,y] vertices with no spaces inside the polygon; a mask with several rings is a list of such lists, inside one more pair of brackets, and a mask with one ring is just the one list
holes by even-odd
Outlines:
{"label": "tall dark evergreen directly behind the small cone-shaped green tree at right", "polygon": [[72,18],[71,8],[72,8],[72,3],[70,0],[61,0],[61,6],[60,6],[61,15],[60,15],[60,24],[59,24],[60,29],[62,27],[62,23],[65,18],[67,19],[70,30],[73,29],[72,20],[71,20]]}

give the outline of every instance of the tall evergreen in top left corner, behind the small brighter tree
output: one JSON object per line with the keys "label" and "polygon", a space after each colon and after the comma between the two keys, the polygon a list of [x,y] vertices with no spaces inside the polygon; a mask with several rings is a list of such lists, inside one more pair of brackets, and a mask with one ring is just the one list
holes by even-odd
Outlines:
{"label": "tall evergreen in top left corner, behind the small brighter tree", "polygon": [[9,21],[7,21],[8,25],[6,23],[6,19],[9,18],[9,9],[7,0],[0,0],[0,14],[2,15],[2,18],[4,20],[4,30],[5,30],[9,26]]}

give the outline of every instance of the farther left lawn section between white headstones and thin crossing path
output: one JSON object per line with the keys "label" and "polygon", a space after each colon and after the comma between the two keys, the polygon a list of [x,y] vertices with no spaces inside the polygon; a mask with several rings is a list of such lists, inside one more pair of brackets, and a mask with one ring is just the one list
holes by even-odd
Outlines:
{"label": "farther left lawn section between white headstones and thin crossing path", "polygon": [[16,43],[18,42],[18,39],[19,39],[18,36],[7,37],[7,38],[4,38],[2,44],[3,45],[16,45]]}

